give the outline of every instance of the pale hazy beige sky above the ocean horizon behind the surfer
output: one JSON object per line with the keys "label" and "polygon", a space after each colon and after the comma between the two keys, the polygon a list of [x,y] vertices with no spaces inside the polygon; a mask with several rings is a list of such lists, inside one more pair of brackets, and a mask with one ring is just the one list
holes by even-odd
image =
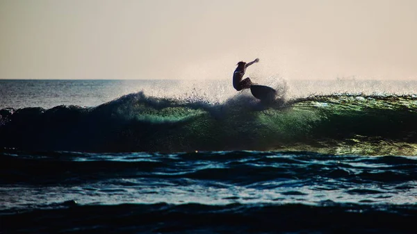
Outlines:
{"label": "pale hazy beige sky above the ocean horizon behind the surfer", "polygon": [[0,78],[417,80],[415,0],[0,0]]}

